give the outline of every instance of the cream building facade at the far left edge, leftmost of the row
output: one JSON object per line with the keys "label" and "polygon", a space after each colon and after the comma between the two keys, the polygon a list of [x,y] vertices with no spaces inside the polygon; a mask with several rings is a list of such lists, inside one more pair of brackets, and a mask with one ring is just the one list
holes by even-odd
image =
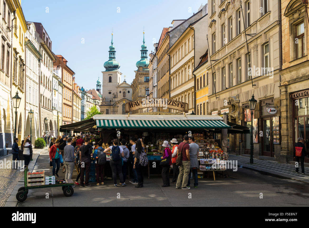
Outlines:
{"label": "cream building facade at the far left edge, leftmost of the row", "polygon": [[[0,32],[2,34],[2,53],[1,53],[1,71],[0,71],[0,156],[7,155],[11,151],[13,142],[13,118],[15,110],[11,105],[11,80],[12,80],[12,41],[14,25],[11,12],[16,10],[13,1],[6,0],[0,2],[2,12],[2,22],[0,23]],[[6,27],[9,27],[8,31]],[[15,91],[16,94],[16,91]],[[15,96],[15,94],[13,96]]]}

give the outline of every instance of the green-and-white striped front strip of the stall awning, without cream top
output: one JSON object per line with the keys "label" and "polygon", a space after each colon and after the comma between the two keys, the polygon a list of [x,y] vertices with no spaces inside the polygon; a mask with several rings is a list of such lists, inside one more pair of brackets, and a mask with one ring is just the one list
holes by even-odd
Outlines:
{"label": "green-and-white striped front strip of the stall awning, without cream top", "polygon": [[231,128],[222,120],[140,120],[140,119],[97,119],[100,129],[222,129]]}

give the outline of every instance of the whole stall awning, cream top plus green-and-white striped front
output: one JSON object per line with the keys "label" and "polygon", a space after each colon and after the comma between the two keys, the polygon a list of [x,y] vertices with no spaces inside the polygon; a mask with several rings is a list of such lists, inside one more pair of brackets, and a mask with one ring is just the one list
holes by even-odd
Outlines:
{"label": "whole stall awning, cream top plus green-and-white striped front", "polygon": [[222,129],[231,128],[220,116],[95,115],[100,129]]}

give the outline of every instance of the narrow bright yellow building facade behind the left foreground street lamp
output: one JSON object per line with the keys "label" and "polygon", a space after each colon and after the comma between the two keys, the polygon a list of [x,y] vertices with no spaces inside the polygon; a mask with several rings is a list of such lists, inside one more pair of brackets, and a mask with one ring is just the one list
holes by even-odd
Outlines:
{"label": "narrow bright yellow building facade behind the left foreground street lamp", "polygon": [[[23,139],[24,137],[24,129],[25,129],[25,122],[26,122],[25,121],[26,112],[25,112],[25,102],[24,102],[25,101],[25,65],[26,65],[25,58],[26,56],[25,56],[24,37],[28,29],[27,22],[23,15],[23,11],[22,11],[20,4],[21,4],[20,0],[18,0],[18,1],[14,1],[14,3],[11,5],[11,6],[14,6],[13,10],[16,11],[14,22],[13,22],[14,25],[16,26],[12,30],[14,34],[13,34],[12,48],[11,48],[11,53],[13,57],[13,60],[12,60],[13,65],[11,66],[11,68],[13,69],[11,98],[15,96],[16,92],[18,92],[18,96],[21,98],[19,108],[17,109],[17,121],[16,121],[17,123],[16,124],[16,137],[19,138],[19,143],[18,143],[19,146],[21,143],[21,139]],[[3,6],[3,9],[6,9],[6,6]],[[11,15],[11,13],[9,13],[9,15]],[[2,20],[3,19],[5,20],[4,17],[2,17]],[[2,44],[2,48],[3,48],[3,44]],[[13,109],[13,106],[12,106],[12,109]],[[13,110],[13,113],[14,112],[15,110]],[[15,120],[15,114],[14,114],[14,120]],[[15,127],[15,124],[13,126]]]}

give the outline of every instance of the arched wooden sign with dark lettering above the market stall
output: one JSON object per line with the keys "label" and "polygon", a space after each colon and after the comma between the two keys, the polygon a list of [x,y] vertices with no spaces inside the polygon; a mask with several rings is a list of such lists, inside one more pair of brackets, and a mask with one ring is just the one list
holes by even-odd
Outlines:
{"label": "arched wooden sign with dark lettering above the market stall", "polygon": [[182,112],[189,111],[188,103],[181,101],[170,100],[166,98],[144,98],[138,101],[131,101],[125,103],[125,112],[131,112],[142,108],[148,107],[163,107],[179,110]]}

